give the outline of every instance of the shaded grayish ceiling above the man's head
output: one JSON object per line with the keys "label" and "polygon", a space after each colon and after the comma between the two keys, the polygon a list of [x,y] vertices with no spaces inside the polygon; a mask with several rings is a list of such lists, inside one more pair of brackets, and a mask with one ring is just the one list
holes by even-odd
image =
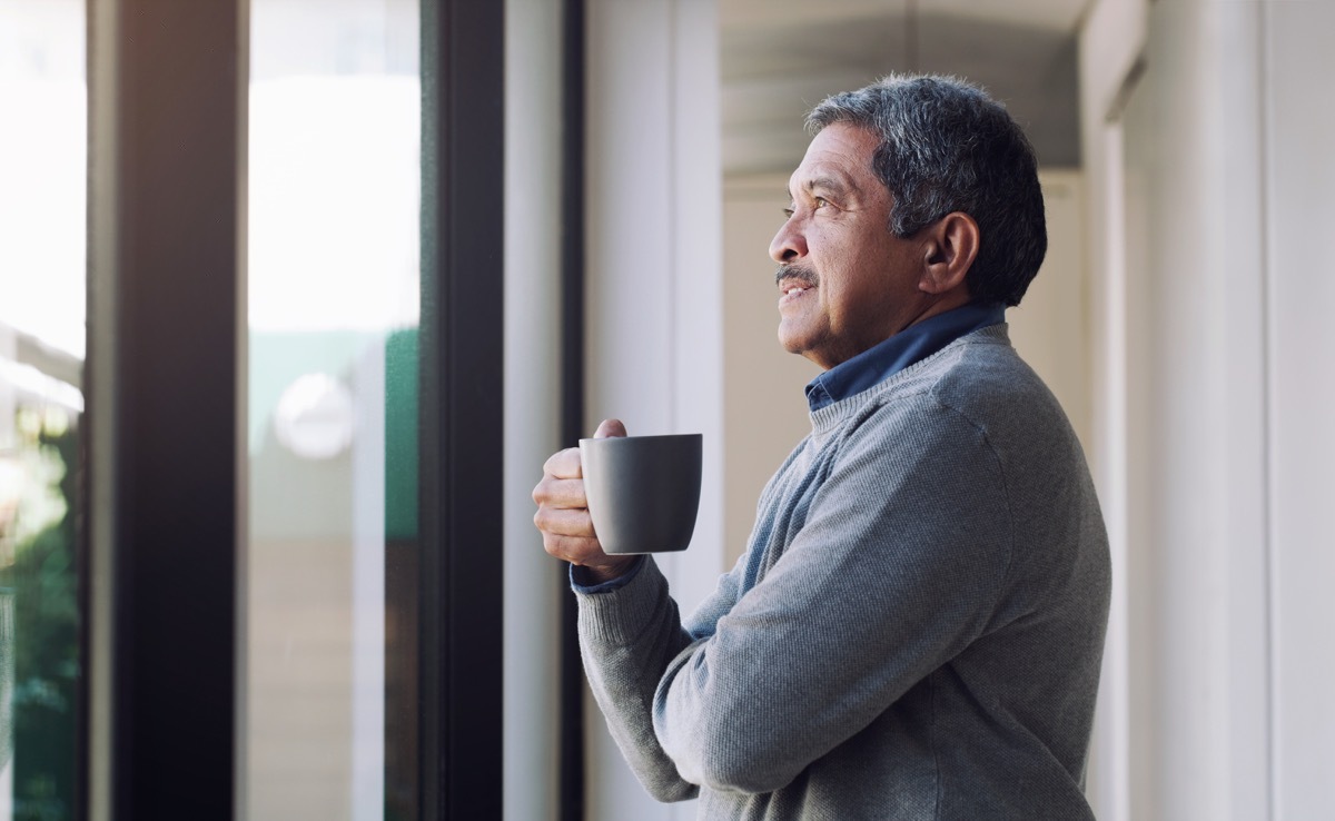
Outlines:
{"label": "shaded grayish ceiling above the man's head", "polygon": [[984,85],[1039,162],[1080,163],[1076,29],[1088,0],[718,0],[724,172],[792,171],[806,111],[892,71]]}

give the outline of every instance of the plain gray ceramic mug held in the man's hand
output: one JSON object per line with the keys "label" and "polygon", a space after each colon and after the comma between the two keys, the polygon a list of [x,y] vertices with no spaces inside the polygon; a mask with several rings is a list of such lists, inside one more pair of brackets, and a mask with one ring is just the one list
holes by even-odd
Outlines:
{"label": "plain gray ceramic mug held in the man's hand", "polygon": [[593,530],[609,555],[685,550],[700,510],[701,434],[579,439]]}

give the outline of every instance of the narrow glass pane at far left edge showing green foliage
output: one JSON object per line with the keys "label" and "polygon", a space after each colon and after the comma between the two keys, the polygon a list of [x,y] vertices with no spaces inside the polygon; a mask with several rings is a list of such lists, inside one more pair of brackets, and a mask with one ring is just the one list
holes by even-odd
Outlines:
{"label": "narrow glass pane at far left edge showing green foliage", "polygon": [[0,821],[75,817],[81,0],[0,0]]}

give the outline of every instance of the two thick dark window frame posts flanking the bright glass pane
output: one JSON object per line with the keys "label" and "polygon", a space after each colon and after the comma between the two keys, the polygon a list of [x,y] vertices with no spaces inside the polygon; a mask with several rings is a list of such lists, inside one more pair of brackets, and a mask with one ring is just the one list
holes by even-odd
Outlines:
{"label": "two thick dark window frame posts flanking the bright glass pane", "polygon": [[[85,789],[238,817],[247,0],[88,0]],[[419,818],[502,808],[503,3],[422,0]]]}

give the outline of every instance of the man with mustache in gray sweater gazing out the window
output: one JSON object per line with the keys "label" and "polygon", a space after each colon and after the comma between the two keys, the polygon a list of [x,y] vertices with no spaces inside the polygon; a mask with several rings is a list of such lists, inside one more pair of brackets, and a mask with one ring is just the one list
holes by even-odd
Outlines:
{"label": "man with mustache in gray sweater gazing out the window", "polygon": [[745,555],[682,621],[651,558],[598,547],[577,450],[534,490],[594,694],[705,818],[1091,818],[1107,537],[1004,323],[1047,250],[1033,151],[943,77],[808,124],[770,255],[780,342],[825,371]]}

